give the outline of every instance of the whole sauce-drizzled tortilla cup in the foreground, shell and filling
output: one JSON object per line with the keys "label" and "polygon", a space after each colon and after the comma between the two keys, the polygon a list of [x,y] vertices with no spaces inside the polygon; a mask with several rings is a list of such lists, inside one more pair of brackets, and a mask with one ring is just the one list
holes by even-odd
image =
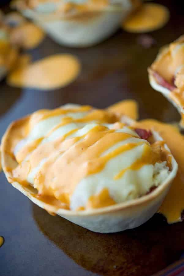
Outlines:
{"label": "whole sauce-drizzled tortilla cup in the foreground, shell and filling", "polygon": [[13,122],[2,168],[31,201],[95,232],[137,227],[156,213],[177,163],[156,132],[91,106],[43,109]]}

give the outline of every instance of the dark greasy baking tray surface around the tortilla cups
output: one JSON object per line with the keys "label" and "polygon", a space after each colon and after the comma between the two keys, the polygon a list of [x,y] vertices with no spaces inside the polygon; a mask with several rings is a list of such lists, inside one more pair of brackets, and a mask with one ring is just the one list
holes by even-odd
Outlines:
{"label": "dark greasy baking tray surface around the tortilla cups", "polygon": [[[168,6],[167,2],[160,1]],[[121,31],[103,44],[81,50],[45,40],[31,51],[34,60],[73,53],[82,61],[82,73],[73,84],[49,92],[21,91],[2,82],[0,136],[18,117],[67,102],[104,108],[123,98],[135,98],[141,118],[178,121],[176,109],[150,87],[146,71],[158,49],[184,33],[182,8],[174,5],[167,26],[152,33],[158,43],[150,49],[136,43],[138,35]],[[58,216],[51,217],[7,183],[3,174],[0,183],[0,235],[5,238],[0,248],[0,275],[144,276],[174,262],[184,251],[184,223],[168,226],[157,214],[137,229],[92,233]]]}

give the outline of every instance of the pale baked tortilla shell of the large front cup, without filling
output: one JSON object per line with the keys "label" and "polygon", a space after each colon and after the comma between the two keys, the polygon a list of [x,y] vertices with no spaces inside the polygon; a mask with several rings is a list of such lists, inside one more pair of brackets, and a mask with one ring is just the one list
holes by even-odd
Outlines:
{"label": "pale baked tortilla shell of the large front cup, without filling", "polygon": [[[2,138],[2,168],[9,182],[11,182],[11,170],[17,166],[17,162],[8,153],[8,140],[12,135],[12,131],[15,131],[15,129],[20,126],[21,123],[24,123],[24,121],[28,118],[29,116],[13,122],[6,130],[6,133]],[[127,117],[122,117],[121,121],[125,123],[128,122],[130,124],[133,122]],[[162,140],[156,132],[153,132],[153,138],[155,141]],[[166,144],[164,147],[167,151],[169,151]],[[99,209],[87,209],[84,211],[55,209],[56,213],[59,216],[94,232],[109,233],[135,228],[151,218],[162,204],[178,169],[178,165],[173,156],[171,164],[172,169],[170,174],[163,181],[163,183],[161,183],[149,194],[142,197]],[[48,203],[35,197],[38,191],[31,185],[29,187],[25,187],[18,182],[13,182],[12,185],[39,207],[47,210],[54,210],[54,205],[49,205]]]}

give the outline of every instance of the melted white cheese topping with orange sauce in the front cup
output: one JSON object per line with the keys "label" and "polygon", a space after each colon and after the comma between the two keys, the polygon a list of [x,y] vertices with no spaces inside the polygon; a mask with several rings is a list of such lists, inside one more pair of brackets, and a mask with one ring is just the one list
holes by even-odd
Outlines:
{"label": "melted white cheese topping with orange sauce in the front cup", "polygon": [[54,199],[72,210],[104,207],[148,193],[160,184],[153,181],[154,165],[163,160],[117,120],[117,115],[90,106],[33,113],[9,140],[9,153],[18,162],[11,181],[31,184],[39,199]]}

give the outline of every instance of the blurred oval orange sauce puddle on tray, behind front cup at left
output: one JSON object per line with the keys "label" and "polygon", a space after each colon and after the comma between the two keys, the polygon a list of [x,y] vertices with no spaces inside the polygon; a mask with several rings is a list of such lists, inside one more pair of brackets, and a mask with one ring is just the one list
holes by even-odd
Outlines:
{"label": "blurred oval orange sauce puddle on tray, behind front cup at left", "polygon": [[58,54],[30,63],[28,66],[17,67],[9,74],[7,82],[16,87],[56,89],[73,82],[80,69],[77,57]]}

